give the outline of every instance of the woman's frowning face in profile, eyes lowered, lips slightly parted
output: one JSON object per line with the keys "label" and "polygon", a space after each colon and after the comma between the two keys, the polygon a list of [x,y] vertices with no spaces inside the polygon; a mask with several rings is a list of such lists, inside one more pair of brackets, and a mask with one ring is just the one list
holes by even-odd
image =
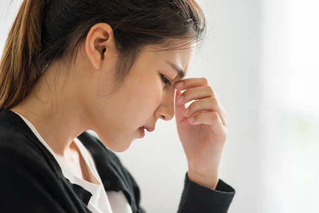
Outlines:
{"label": "woman's frowning face in profile, eyes lowered, lips slightly parted", "polygon": [[[110,78],[110,73],[101,73],[94,112],[90,114],[93,130],[106,146],[125,151],[133,140],[143,138],[145,131],[153,131],[157,119],[173,118],[174,84],[188,71],[195,45],[173,50],[146,46],[123,85],[111,95],[103,91],[111,91],[114,85],[101,81]],[[115,71],[113,68],[113,75]]]}

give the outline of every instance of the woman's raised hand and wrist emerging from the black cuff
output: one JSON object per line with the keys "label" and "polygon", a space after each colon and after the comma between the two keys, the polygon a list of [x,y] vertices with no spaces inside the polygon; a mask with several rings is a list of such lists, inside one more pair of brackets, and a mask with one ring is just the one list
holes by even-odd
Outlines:
{"label": "woman's raised hand and wrist emerging from the black cuff", "polygon": [[[188,177],[216,189],[227,136],[225,111],[206,78],[187,78],[174,86],[177,130],[188,159]],[[185,103],[192,100],[186,108]]]}

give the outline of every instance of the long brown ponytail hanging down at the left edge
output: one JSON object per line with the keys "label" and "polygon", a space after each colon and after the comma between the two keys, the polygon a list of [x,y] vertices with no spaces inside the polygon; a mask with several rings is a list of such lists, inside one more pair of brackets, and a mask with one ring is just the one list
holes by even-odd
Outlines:
{"label": "long brown ponytail hanging down at the left edge", "polygon": [[24,0],[10,29],[0,61],[0,111],[23,100],[40,75],[37,59],[44,2]]}

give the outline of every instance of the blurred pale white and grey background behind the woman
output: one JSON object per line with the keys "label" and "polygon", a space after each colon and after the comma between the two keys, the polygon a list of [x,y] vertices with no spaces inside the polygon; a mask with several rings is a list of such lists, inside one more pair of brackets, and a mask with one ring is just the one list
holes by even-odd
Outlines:
{"label": "blurred pale white and grey background behind the woman", "polygon": [[[1,51],[20,3],[1,3]],[[207,77],[227,112],[229,212],[319,212],[319,2],[198,3],[208,32],[189,76]],[[187,162],[174,120],[118,155],[148,212],[177,211]]]}

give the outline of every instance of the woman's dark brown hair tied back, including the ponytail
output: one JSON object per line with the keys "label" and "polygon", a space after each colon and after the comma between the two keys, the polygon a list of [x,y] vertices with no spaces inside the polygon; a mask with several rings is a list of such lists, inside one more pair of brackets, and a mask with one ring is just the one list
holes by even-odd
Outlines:
{"label": "woman's dark brown hair tied back, including the ponytail", "polygon": [[0,111],[23,100],[48,63],[74,59],[99,22],[114,31],[119,86],[145,45],[199,41],[206,27],[194,0],[24,0],[0,61]]}

